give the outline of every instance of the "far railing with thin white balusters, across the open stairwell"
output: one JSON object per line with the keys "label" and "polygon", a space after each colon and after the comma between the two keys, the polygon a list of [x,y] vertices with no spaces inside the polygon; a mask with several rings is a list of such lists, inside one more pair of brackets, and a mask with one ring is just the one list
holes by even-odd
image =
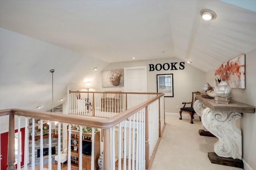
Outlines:
{"label": "far railing with thin white balusters, across the open stairwell", "polygon": [[70,113],[109,118],[157,96],[157,93],[70,91]]}

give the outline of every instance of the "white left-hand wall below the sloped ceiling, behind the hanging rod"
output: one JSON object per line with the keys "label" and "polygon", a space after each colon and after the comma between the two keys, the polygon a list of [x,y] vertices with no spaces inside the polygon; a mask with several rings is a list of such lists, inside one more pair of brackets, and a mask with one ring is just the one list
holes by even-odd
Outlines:
{"label": "white left-hand wall below the sloped ceiling, behind the hanging rod", "polygon": [[[0,109],[20,108],[40,111],[52,108],[66,95],[70,82],[83,82],[108,62],[0,28]],[[36,99],[36,100],[35,100]]]}

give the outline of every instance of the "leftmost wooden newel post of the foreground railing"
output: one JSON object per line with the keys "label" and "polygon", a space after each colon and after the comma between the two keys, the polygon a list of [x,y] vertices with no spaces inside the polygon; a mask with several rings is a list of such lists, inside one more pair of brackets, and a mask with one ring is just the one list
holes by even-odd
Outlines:
{"label": "leftmost wooden newel post of the foreground railing", "polygon": [[15,170],[14,115],[9,115],[7,170]]}

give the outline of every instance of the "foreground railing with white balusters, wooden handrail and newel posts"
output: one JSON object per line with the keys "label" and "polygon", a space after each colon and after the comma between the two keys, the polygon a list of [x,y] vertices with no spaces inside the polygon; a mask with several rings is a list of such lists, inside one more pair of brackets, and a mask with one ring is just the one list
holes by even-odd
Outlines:
{"label": "foreground railing with white balusters, wooden handrail and newel posts", "polygon": [[[89,94],[88,94],[89,95]],[[97,99],[95,97],[101,96],[102,93],[95,93],[89,95],[91,103],[96,103]],[[122,94],[122,99],[126,100],[127,94]],[[155,96],[155,97],[154,97]],[[80,126],[91,126],[92,134],[94,134],[94,128],[105,129],[106,134],[104,134],[104,169],[118,170],[128,169],[128,170],[145,170],[148,168],[148,161],[151,159],[154,149],[159,142],[159,135],[163,128],[162,118],[164,117],[164,97],[160,96],[147,96],[151,98],[148,102],[143,102],[142,104],[132,107],[123,114],[111,115],[108,119],[102,119],[98,117],[87,117],[78,115],[63,115],[60,113],[40,112],[40,111],[29,111],[22,109],[11,109],[11,110],[0,110],[0,116],[9,115],[9,133],[14,132],[14,115],[18,116],[18,135],[20,136],[20,117],[25,117],[25,127],[28,127],[28,117],[32,117],[32,157],[31,157],[31,169],[35,169],[35,118],[40,121],[40,170],[43,169],[43,124],[45,121],[49,121],[49,141],[48,141],[48,169],[52,169],[52,123],[53,121],[58,121],[58,170],[61,169],[60,164],[60,151],[61,151],[61,123],[68,123],[68,131],[71,131],[71,124],[76,124]],[[71,99],[70,99],[71,100]],[[140,100],[142,100],[140,98]],[[75,101],[76,102],[76,101]],[[136,100],[136,102],[138,102]],[[160,103],[159,103],[160,102]],[[126,102],[127,103],[127,102]],[[70,104],[72,106],[73,104]],[[126,104],[125,104],[126,105]],[[126,108],[123,107],[123,109]],[[93,109],[90,109],[91,113]],[[94,112],[95,113],[95,112]],[[159,122],[160,117],[160,122]],[[161,124],[160,124],[161,123]],[[117,131],[117,133],[115,133]],[[80,145],[79,149],[82,149],[82,130],[80,130]],[[11,139],[11,135],[9,134]],[[25,152],[24,152],[24,169],[27,169],[28,163],[28,130],[25,130]],[[18,137],[20,139],[20,137]],[[92,158],[94,157],[94,135],[92,135]],[[117,141],[117,142],[116,142]],[[68,133],[68,170],[71,170],[71,133]],[[12,150],[14,141],[10,140],[8,144],[10,150]],[[115,152],[115,150],[117,152]],[[14,149],[13,149],[14,152]],[[10,158],[8,158],[8,170],[13,170],[13,154],[11,151],[8,152]],[[18,153],[20,153],[20,142],[18,142]],[[8,156],[8,157],[9,157]],[[79,156],[79,160],[82,160],[82,154]],[[116,161],[116,158],[118,161]],[[20,156],[18,156],[18,169],[20,169]],[[15,159],[14,159],[15,160]],[[118,165],[117,165],[118,164]],[[82,161],[79,161],[78,168],[82,169]],[[91,159],[91,169],[95,169],[95,160]]]}

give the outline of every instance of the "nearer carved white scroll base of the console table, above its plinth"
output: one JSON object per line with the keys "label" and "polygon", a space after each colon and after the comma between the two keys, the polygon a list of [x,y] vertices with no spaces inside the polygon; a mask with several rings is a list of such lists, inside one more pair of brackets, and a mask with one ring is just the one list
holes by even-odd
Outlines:
{"label": "nearer carved white scroll base of the console table, above its plinth", "polygon": [[214,152],[221,157],[242,159],[242,135],[235,125],[241,113],[213,111],[207,107],[203,111],[202,124],[219,140],[214,144]]}

